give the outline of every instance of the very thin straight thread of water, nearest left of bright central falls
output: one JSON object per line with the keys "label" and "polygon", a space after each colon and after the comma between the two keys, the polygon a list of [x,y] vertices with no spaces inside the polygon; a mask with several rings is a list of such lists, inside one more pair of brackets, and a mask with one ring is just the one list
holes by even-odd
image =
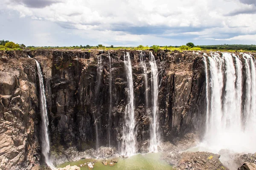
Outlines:
{"label": "very thin straight thread of water, nearest left of bright central falls", "polygon": [[112,72],[111,72],[111,57],[108,52],[109,58],[109,111],[108,111],[108,145],[111,146],[111,115],[112,115]]}

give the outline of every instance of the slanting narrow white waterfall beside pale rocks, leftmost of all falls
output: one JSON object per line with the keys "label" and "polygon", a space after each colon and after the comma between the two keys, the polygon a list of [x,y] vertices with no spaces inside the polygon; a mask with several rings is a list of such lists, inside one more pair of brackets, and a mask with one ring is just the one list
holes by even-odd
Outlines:
{"label": "slanting narrow white waterfall beside pale rocks, leftmost of all falls", "polygon": [[54,169],[52,162],[49,159],[49,152],[50,152],[50,141],[48,135],[48,116],[47,116],[47,105],[46,105],[46,97],[44,91],[44,79],[41,72],[40,65],[38,61],[35,60],[37,70],[38,70],[38,80],[39,80],[39,97],[40,97],[40,111],[41,111],[41,151],[45,158],[46,164],[51,168]]}

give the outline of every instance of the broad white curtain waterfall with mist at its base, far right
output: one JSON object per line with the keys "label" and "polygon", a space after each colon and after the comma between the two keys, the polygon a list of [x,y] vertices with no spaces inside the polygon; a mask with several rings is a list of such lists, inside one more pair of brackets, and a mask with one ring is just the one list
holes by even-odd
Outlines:
{"label": "broad white curtain waterfall with mist at its base, far right", "polygon": [[256,152],[256,68],[246,53],[204,54],[209,151]]}

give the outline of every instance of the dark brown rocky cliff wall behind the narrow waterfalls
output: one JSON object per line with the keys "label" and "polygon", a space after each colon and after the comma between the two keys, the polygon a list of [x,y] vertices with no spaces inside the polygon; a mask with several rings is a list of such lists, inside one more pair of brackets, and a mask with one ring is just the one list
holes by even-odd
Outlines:
{"label": "dark brown rocky cliff wall behind the narrow waterfalls", "polygon": [[[130,53],[133,73],[137,150],[143,153],[148,152],[151,113],[145,109],[140,51],[126,52]],[[151,107],[149,51],[143,53],[148,68],[148,107]],[[161,140],[175,142],[175,138],[186,133],[201,137],[206,116],[202,52],[159,51],[153,54],[159,72]],[[99,55],[103,68],[100,79],[97,78]],[[96,125],[99,146],[108,146],[110,129],[111,146],[119,150],[127,104],[124,51],[6,51],[0,52],[0,168],[31,169],[40,161],[44,162],[40,154],[38,77],[32,58],[40,63],[44,75],[51,150],[58,153],[71,147],[79,151],[95,148]]]}

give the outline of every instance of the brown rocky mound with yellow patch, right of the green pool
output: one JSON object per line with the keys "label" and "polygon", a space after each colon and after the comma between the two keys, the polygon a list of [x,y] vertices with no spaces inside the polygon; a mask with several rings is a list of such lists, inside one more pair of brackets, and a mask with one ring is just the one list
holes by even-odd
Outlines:
{"label": "brown rocky mound with yellow patch, right of the green pool", "polygon": [[220,155],[209,152],[183,152],[175,170],[229,170],[219,160]]}

